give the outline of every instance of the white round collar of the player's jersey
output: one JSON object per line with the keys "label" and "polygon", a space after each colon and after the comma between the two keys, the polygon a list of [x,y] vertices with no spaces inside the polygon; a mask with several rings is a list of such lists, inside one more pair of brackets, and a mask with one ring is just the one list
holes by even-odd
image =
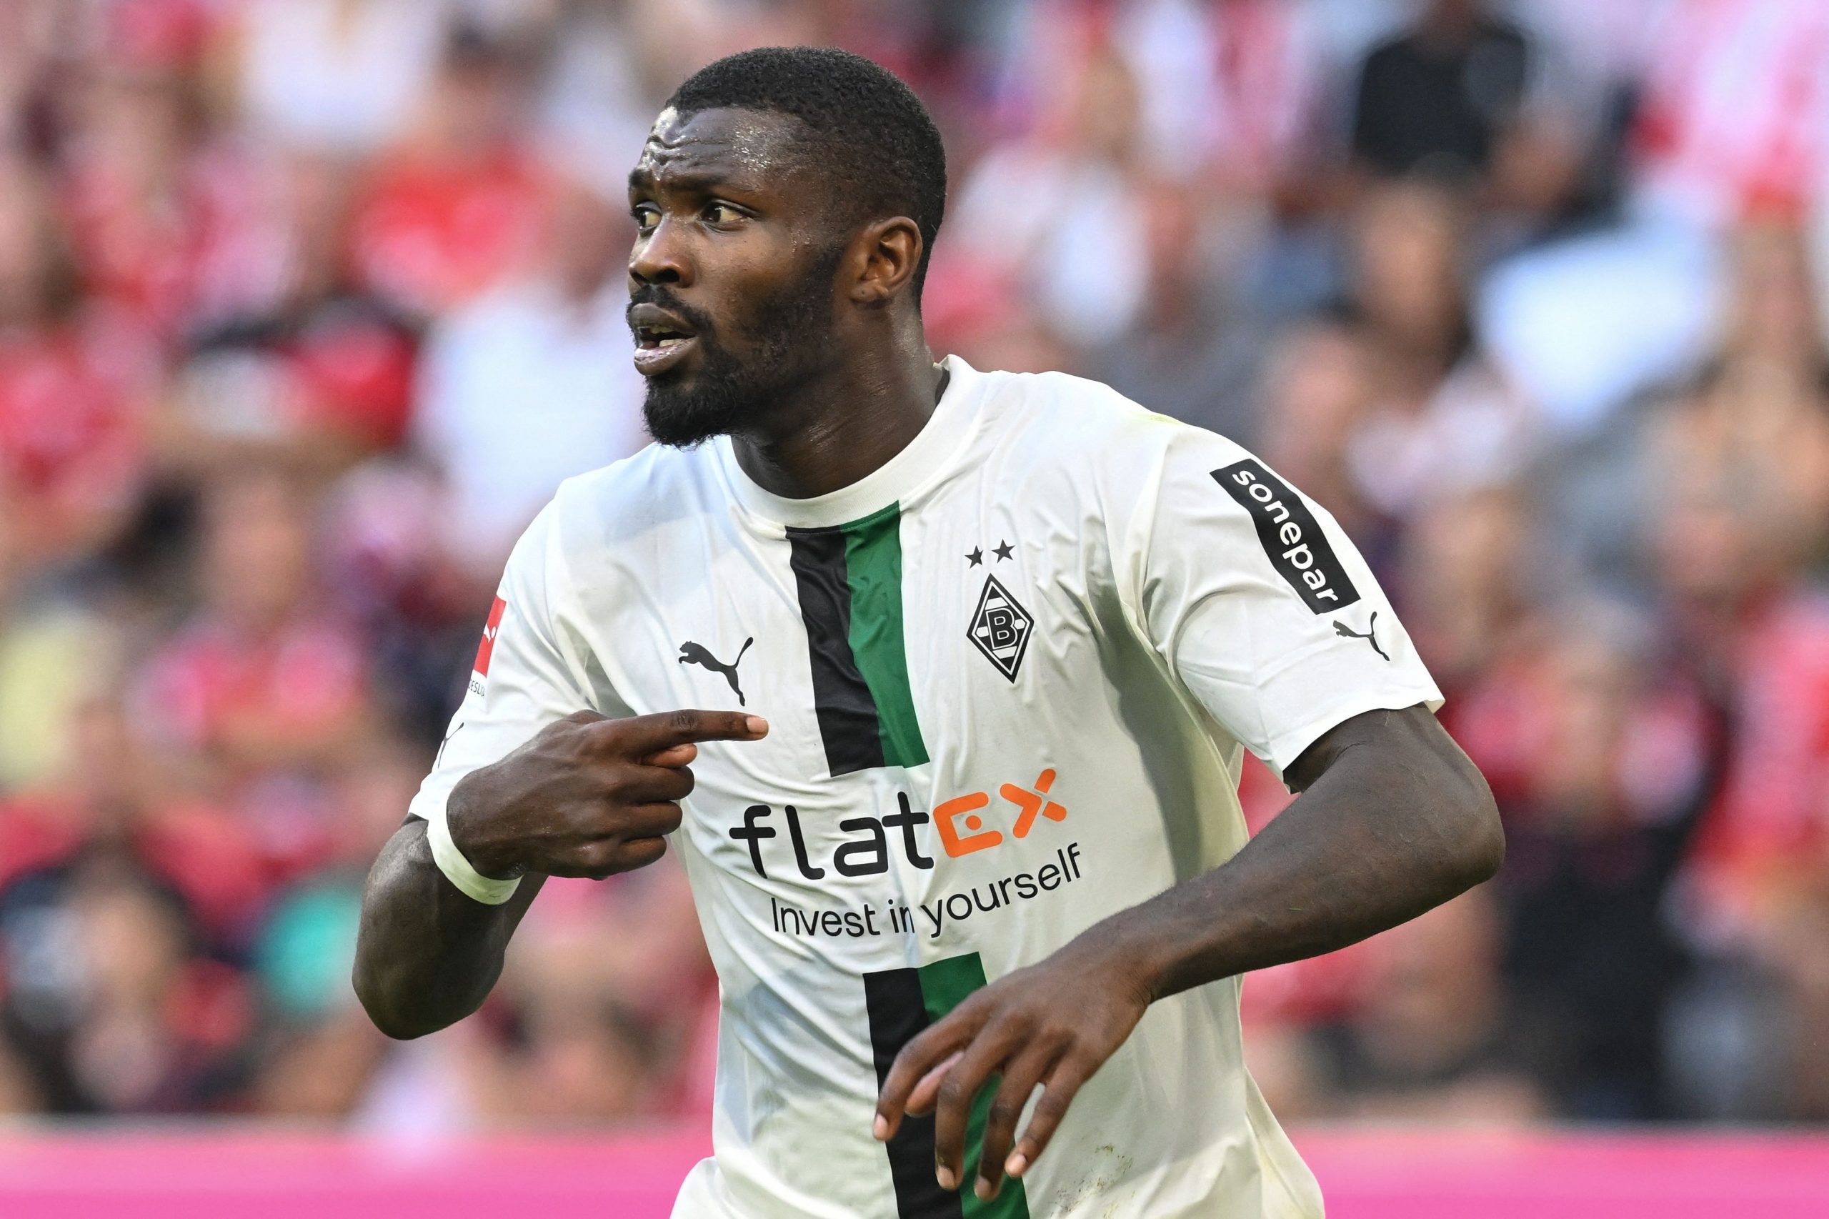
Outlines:
{"label": "white round collar of the player's jersey", "polygon": [[755,516],[794,529],[843,525],[891,503],[907,503],[964,448],[971,437],[979,399],[984,394],[984,373],[957,355],[947,355],[942,362],[949,375],[946,394],[935,405],[933,415],[927,417],[914,439],[904,445],[902,452],[849,487],[810,500],[777,496],[757,487],[743,472],[730,437],[719,436],[711,443],[724,485]]}

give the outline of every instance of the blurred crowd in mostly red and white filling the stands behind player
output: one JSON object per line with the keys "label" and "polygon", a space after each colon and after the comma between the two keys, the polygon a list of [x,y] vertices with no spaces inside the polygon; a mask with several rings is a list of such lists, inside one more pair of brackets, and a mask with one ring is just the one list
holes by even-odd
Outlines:
{"label": "blurred crowd in mostly red and white filling the stands behind player", "polygon": [[1498,880],[1247,981],[1278,1113],[1829,1118],[1816,0],[0,4],[0,1113],[708,1109],[671,862],[444,1034],[348,976],[508,545],[644,443],[620,179],[783,42],[947,135],[935,350],[1258,450],[1492,782]]}

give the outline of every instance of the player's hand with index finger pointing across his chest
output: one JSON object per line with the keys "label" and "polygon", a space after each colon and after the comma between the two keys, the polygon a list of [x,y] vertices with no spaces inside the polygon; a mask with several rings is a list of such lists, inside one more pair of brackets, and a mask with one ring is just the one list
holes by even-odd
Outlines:
{"label": "player's hand with index finger pointing across his chest", "polygon": [[602,880],[666,855],[691,794],[695,741],[757,741],[759,716],[677,710],[629,719],[576,712],[463,776],[446,805],[452,842],[485,877]]}

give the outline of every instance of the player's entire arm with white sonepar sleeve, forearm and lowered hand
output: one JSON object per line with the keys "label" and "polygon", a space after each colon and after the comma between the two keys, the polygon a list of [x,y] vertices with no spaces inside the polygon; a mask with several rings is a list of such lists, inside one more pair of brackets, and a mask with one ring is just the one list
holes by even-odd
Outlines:
{"label": "player's entire arm with white sonepar sleeve, forearm and lowered hand", "polygon": [[1224,866],[973,994],[902,1051],[876,1133],[935,1107],[947,1188],[964,1182],[966,1115],[991,1076],[980,1193],[1041,1155],[1150,1001],[1383,932],[1485,880],[1503,853],[1492,796],[1430,714],[1441,694],[1339,523],[1218,436],[1165,419],[1134,436],[1130,456],[1154,445],[1147,469],[1118,472],[1125,445],[1101,458],[1136,502],[1107,514],[1127,619],[1302,794]]}

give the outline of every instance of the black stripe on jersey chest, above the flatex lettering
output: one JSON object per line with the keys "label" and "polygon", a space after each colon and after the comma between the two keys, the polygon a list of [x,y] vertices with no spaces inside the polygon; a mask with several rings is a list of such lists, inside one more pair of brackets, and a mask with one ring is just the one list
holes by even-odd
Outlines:
{"label": "black stripe on jersey chest, above the flatex lettering", "polygon": [[788,529],[790,564],[799,586],[812,699],[832,776],[883,765],[876,697],[850,653],[850,580],[841,529]]}

